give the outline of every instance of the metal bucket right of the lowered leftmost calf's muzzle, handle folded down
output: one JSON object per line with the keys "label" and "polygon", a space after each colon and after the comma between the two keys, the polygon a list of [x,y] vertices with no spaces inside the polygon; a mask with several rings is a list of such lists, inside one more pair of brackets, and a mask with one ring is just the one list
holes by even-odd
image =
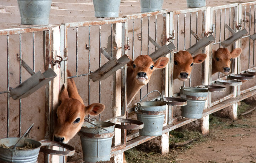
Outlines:
{"label": "metal bucket right of the lowered leftmost calf's muzzle, handle folded down", "polygon": [[110,161],[110,150],[115,124],[103,121],[93,121],[92,123],[100,125],[108,131],[84,122],[81,130],[78,132],[81,139],[84,161]]}

